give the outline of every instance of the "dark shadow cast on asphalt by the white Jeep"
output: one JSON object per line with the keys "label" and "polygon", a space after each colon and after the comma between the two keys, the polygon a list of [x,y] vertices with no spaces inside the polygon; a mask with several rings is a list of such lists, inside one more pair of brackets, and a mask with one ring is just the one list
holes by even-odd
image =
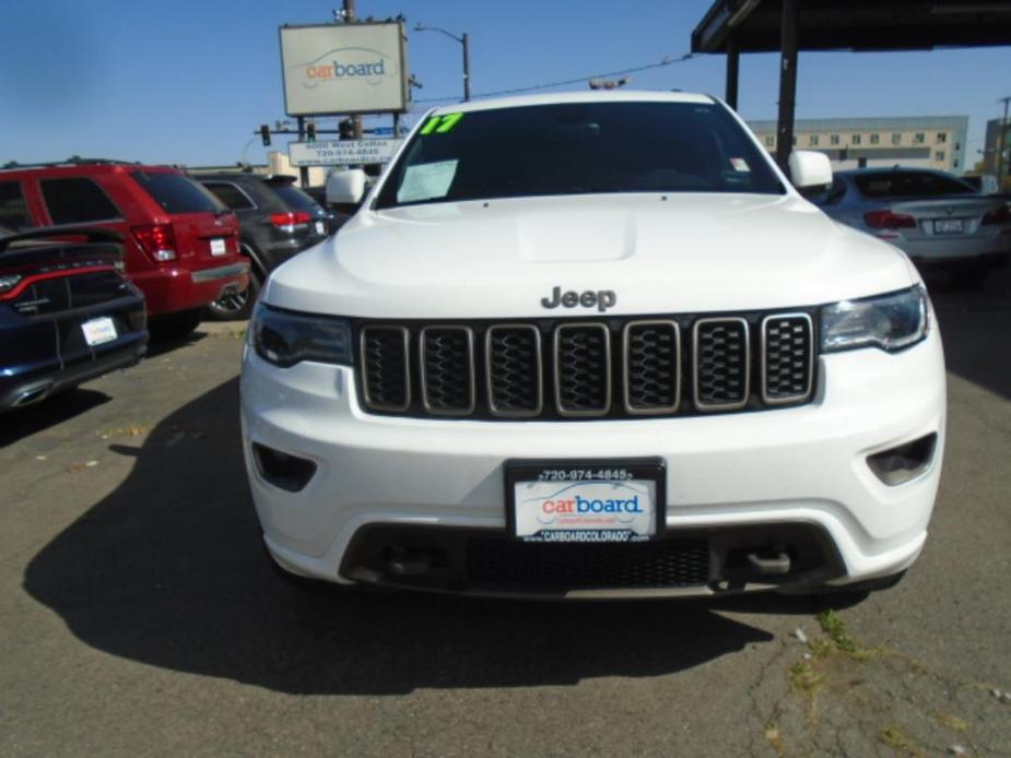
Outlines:
{"label": "dark shadow cast on asphalt by the white Jeep", "polygon": [[[700,602],[290,588],[262,555],[237,402],[232,380],[165,418],[122,484],[28,565],[25,590],[86,644],[283,692],[391,695],[658,676],[772,640]],[[797,601],[776,612],[809,609]],[[749,602],[737,609],[763,607]]]}

